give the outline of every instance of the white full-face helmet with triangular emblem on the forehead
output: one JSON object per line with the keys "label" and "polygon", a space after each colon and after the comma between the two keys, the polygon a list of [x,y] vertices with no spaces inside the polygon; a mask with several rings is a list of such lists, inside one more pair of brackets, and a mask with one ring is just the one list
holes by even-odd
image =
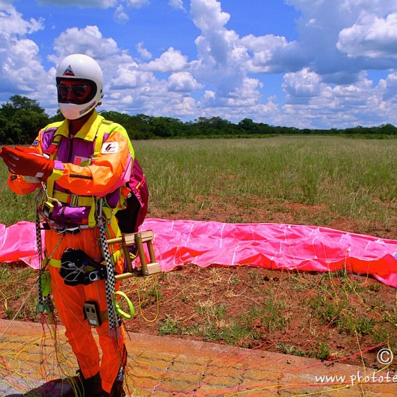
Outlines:
{"label": "white full-face helmet with triangular emblem on the forehead", "polygon": [[[103,75],[100,65],[84,54],[72,54],[66,56],[56,69],[56,84],[65,79],[81,80],[81,84],[91,86],[91,94],[84,99],[84,103],[78,100],[70,101],[60,95],[58,89],[59,110],[69,120],[75,120],[87,114],[95,106],[100,104],[103,97]],[[63,87],[65,88],[65,87]]]}

